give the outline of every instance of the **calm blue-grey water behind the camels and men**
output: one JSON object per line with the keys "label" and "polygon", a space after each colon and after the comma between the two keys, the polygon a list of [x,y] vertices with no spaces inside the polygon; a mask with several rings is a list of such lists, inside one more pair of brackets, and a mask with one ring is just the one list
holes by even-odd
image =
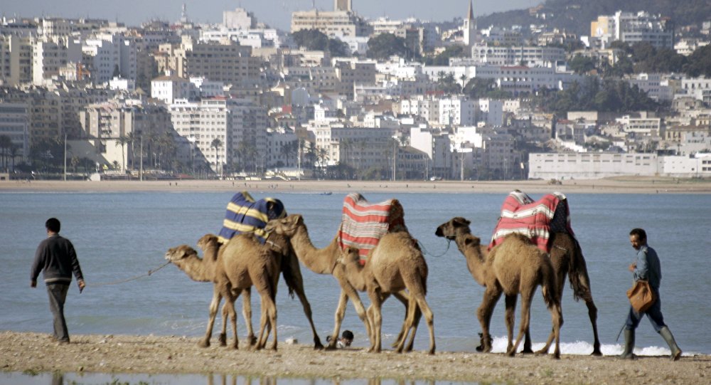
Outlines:
{"label": "calm blue-grey water behind the camels and men", "polygon": [[[563,191],[565,192],[565,191]],[[311,240],[324,247],[333,238],[341,218],[343,194],[274,194],[251,191],[255,198],[282,199],[289,213],[304,215]],[[118,285],[110,283],[146,273],[164,263],[165,251],[195,243],[205,233],[219,231],[230,193],[0,193],[0,330],[50,332],[46,290],[29,288],[29,269],[37,244],[45,237],[44,221],[56,216],[62,234],[73,241],[90,285],[80,295],[70,290],[65,314],[75,334],[161,334],[201,336],[205,329],[212,288],[195,283],[169,265],[147,278]],[[505,194],[365,194],[370,201],[392,197],[405,208],[410,232],[427,251],[427,301],[435,316],[437,349],[474,352],[479,343],[476,308],[483,288],[471,278],[464,257],[454,243],[434,236],[440,223],[452,216],[472,221],[472,231],[488,239]],[[538,195],[532,194],[533,198]],[[628,309],[625,291],[631,284],[627,266],[634,259],[627,234],[646,228],[650,244],[662,260],[661,297],[665,320],[685,353],[711,354],[711,281],[707,275],[711,250],[711,196],[640,194],[569,194],[572,227],[579,238],[599,309],[598,326],[604,354],[621,352],[616,336]],[[447,250],[446,253],[445,250]],[[441,255],[442,256],[437,256]],[[302,268],[306,295],[314,310],[321,339],[333,327],[338,284],[328,275]],[[279,284],[279,337],[311,341],[308,323],[298,300]],[[540,290],[539,290],[540,293]],[[361,295],[367,302],[367,296]],[[254,322],[259,301],[255,295]],[[494,351],[506,347],[503,300],[491,322]],[[563,298],[564,354],[592,352],[592,330],[587,307],[574,302],[566,285]],[[403,308],[386,302],[383,312],[384,347],[400,329]],[[519,318],[517,312],[517,321]],[[244,322],[237,320],[240,336]],[[258,326],[258,325],[255,325]],[[417,334],[416,349],[427,348],[427,328]],[[349,305],[342,329],[355,334],[356,347],[368,345],[363,325]],[[541,295],[535,297],[531,332],[534,342],[545,340],[550,315]],[[534,348],[537,344],[534,344]],[[538,345],[540,346],[540,345]],[[668,348],[643,321],[637,333],[638,354],[668,354]]]}

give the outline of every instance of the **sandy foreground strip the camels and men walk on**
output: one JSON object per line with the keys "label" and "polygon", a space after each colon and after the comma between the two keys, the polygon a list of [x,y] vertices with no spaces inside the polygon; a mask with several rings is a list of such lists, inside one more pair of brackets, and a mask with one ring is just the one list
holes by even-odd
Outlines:
{"label": "sandy foreground strip the camels and men walk on", "polygon": [[[5,372],[109,374],[238,374],[311,379],[417,379],[513,384],[620,384],[627,381],[707,384],[711,356],[616,357],[421,351],[380,354],[348,348],[317,351],[310,343],[279,343],[277,352],[198,347],[199,337],[73,334],[58,344],[50,334],[0,332],[0,369]],[[364,369],[367,368],[367,369]]]}

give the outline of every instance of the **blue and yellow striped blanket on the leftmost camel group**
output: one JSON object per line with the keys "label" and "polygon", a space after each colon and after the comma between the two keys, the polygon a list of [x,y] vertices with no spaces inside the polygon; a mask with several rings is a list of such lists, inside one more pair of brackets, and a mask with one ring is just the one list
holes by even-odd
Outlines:
{"label": "blue and yellow striped blanket on the leftmost camel group", "polygon": [[264,226],[272,219],[284,218],[287,211],[279,199],[264,198],[255,201],[247,191],[232,196],[227,205],[225,220],[218,239],[220,243],[227,243],[233,236],[240,233],[255,233],[260,242],[264,244],[267,233]]}

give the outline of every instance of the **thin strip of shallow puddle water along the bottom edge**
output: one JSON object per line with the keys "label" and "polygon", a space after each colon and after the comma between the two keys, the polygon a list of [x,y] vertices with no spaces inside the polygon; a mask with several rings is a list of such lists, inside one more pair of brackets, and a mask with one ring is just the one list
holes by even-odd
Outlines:
{"label": "thin strip of shallow puddle water along the bottom edge", "polygon": [[476,382],[395,379],[292,379],[238,374],[106,374],[0,372],[0,384],[13,385],[476,385]]}

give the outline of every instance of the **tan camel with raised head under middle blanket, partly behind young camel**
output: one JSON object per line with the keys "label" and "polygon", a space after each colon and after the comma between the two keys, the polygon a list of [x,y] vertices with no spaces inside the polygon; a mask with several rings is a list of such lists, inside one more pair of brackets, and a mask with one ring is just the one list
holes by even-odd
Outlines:
{"label": "tan camel with raised head under middle blanket, partly behind young camel", "polygon": [[[333,326],[332,336],[338,336],[341,329],[341,322],[343,322],[343,316],[346,315],[346,305],[348,305],[348,299],[353,302],[353,307],[355,307],[355,312],[358,313],[358,317],[365,325],[365,331],[368,337],[372,337],[372,329],[370,327],[369,317],[365,307],[363,307],[363,302],[360,301],[358,296],[358,291],[353,288],[348,279],[346,278],[346,270],[341,263],[338,263],[338,258],[341,257],[341,247],[338,246],[338,237],[334,237],[333,241],[328,244],[325,248],[316,248],[313,243],[311,243],[311,238],[309,238],[309,230],[306,228],[304,223],[304,218],[299,214],[292,214],[285,218],[274,219],[267,223],[264,227],[264,231],[267,233],[277,233],[282,236],[289,238],[289,241],[296,253],[296,257],[299,258],[301,263],[304,263],[307,268],[316,274],[331,274],[336,280],[338,280],[338,285],[341,286],[341,293],[338,297],[338,307],[336,307],[336,315],[334,316],[335,325]],[[405,292],[395,292],[392,293],[400,302],[407,306],[408,298]],[[417,330],[417,322],[419,321],[419,316],[421,313],[419,310],[415,312],[415,331]],[[403,324],[403,329],[400,331],[395,343],[395,345],[400,344],[400,339],[404,334],[405,325]],[[332,338],[329,342],[327,349],[336,349],[337,338]],[[415,342],[415,332],[412,333],[412,338],[407,344],[406,350],[409,352],[412,350],[412,345]]]}

